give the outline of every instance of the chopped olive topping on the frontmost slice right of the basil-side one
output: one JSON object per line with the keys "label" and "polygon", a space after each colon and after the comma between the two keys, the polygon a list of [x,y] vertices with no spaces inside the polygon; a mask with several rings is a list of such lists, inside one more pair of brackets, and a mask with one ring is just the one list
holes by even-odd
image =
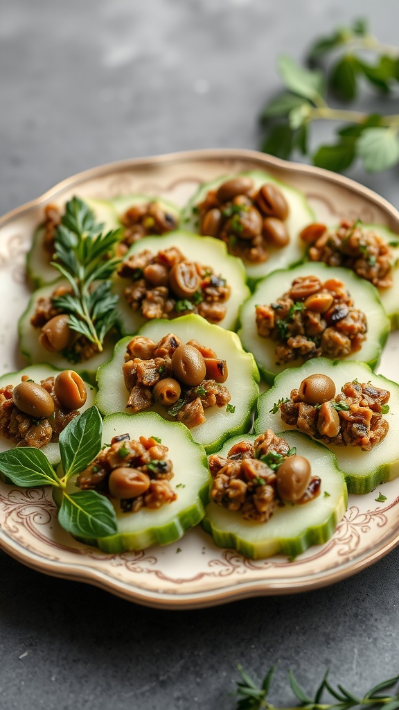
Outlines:
{"label": "chopped olive topping on the frontmost slice right of the basil-side one", "polygon": [[226,457],[209,457],[209,470],[214,503],[258,523],[266,523],[276,506],[302,505],[320,492],[321,480],[312,476],[308,459],[271,430],[253,442],[234,444]]}

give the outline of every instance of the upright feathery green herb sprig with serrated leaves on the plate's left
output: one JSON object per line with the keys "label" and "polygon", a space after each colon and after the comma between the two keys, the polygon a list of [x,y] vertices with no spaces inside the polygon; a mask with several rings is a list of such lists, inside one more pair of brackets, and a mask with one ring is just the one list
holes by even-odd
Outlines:
{"label": "upright feathery green herb sprig with serrated leaves on the plate's left", "polygon": [[109,257],[120,239],[120,230],[102,231],[91,209],[78,197],[67,202],[55,232],[52,265],[72,287],[72,293],[53,298],[53,305],[69,315],[72,330],[84,335],[102,351],[104,338],[117,322],[118,296],[111,293],[109,278],[120,259]]}

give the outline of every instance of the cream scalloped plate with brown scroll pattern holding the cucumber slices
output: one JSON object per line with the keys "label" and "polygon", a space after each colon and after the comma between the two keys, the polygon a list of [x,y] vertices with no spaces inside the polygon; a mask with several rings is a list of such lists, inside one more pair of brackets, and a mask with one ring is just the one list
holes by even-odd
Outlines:
{"label": "cream scalloped plate with brown scroll pattern holding the cucumber slices", "polygon": [[[21,369],[16,321],[29,290],[25,253],[43,206],[72,195],[114,197],[131,192],[160,195],[178,205],[200,182],[240,170],[267,170],[305,192],[318,221],[360,217],[399,232],[399,213],[382,197],[348,178],[263,153],[209,150],[126,160],[87,170],[53,187],[38,200],[0,219],[0,373]],[[399,332],[390,335],[379,372],[395,378]],[[378,503],[378,493],[386,496]],[[142,552],[107,555],[75,541],[58,525],[45,488],[0,484],[0,547],[45,574],[94,584],[157,608],[199,608],[250,596],[293,594],[349,577],[399,543],[399,479],[366,496],[349,496],[349,508],[334,536],[290,562],[285,557],[252,561],[216,547],[201,528],[179,542]]]}

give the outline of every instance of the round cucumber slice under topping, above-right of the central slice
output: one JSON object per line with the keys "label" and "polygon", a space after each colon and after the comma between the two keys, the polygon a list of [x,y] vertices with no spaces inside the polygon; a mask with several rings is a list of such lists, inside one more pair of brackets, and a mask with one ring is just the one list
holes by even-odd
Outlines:
{"label": "round cucumber slice under topping, above-right of the central slice", "polygon": [[350,360],[361,360],[374,369],[381,357],[390,331],[390,322],[383,309],[378,291],[353,271],[345,268],[333,268],[319,261],[301,264],[294,268],[275,271],[259,281],[253,295],[244,303],[240,311],[241,329],[239,337],[244,348],[253,353],[258,368],[266,382],[273,384],[274,378],[287,368],[300,366],[300,359],[290,363],[277,364],[275,357],[276,343],[269,338],[262,338],[256,329],[255,307],[258,303],[270,304],[289,290],[291,283],[298,276],[315,275],[322,282],[328,278],[337,278],[345,285],[354,299],[354,307],[366,313],[368,334],[361,349],[349,356]]}

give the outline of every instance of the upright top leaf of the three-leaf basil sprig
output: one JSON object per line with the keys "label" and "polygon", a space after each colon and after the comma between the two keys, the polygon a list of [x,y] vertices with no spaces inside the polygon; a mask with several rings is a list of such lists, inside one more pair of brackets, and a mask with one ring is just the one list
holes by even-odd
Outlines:
{"label": "upright top leaf of the three-leaf basil sprig", "polygon": [[65,479],[82,471],[101,449],[102,418],[90,407],[72,419],[60,433],[60,453]]}

